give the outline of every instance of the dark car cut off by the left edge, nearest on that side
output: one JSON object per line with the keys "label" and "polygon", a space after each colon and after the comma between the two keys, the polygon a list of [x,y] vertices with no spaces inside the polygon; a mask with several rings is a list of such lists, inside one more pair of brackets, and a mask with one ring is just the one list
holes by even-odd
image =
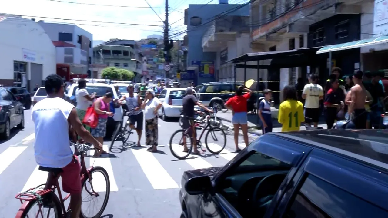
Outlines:
{"label": "dark car cut off by the left edge, nearest on that side", "polygon": [[0,137],[7,140],[11,129],[24,128],[23,104],[4,87],[0,87]]}

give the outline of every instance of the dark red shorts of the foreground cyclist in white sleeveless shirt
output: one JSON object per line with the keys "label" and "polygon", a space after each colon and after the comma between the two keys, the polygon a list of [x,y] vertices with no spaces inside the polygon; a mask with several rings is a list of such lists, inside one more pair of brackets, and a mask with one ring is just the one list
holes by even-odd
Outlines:
{"label": "dark red shorts of the foreground cyclist in white sleeveless shirt", "polygon": [[62,190],[69,194],[79,194],[82,191],[81,185],[81,164],[77,156],[73,156],[73,160],[62,168]]}

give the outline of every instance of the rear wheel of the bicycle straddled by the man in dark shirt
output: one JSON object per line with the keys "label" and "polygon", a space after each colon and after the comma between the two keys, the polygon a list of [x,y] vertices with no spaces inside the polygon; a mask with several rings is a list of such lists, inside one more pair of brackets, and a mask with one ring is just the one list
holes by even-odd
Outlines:
{"label": "rear wheel of the bicycle straddled by the man in dark shirt", "polygon": [[[175,139],[174,138],[175,135],[177,135],[177,139],[178,139],[177,141],[173,140]],[[183,151],[184,149],[183,137],[186,137],[186,145],[187,145],[187,149],[189,149],[189,151],[187,152]],[[177,130],[174,133],[172,133],[170,137],[170,151],[174,157],[178,159],[185,159],[187,156],[190,155],[192,149],[193,149],[193,142],[191,140],[191,137],[187,135],[186,130]]]}

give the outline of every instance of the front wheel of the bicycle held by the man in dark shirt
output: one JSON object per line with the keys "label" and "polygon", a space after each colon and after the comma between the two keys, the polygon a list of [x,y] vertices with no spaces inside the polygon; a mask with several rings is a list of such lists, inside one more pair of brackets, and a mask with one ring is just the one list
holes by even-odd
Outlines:
{"label": "front wheel of the bicycle held by the man in dark shirt", "polygon": [[[209,142],[209,135],[211,139],[214,140],[213,142]],[[223,140],[223,142],[222,142]],[[219,128],[219,127],[213,127],[208,130],[208,132],[205,135],[205,145],[206,148],[212,153],[212,154],[218,154],[220,153],[226,145],[226,134],[225,132]]]}

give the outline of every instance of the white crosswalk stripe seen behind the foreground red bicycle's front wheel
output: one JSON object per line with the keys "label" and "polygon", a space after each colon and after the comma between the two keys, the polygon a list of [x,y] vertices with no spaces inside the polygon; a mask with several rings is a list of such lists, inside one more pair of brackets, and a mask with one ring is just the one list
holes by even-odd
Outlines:
{"label": "white crosswalk stripe seen behind the foreground red bicycle's front wheel", "polygon": [[[104,151],[109,151],[108,145],[103,145],[102,148],[104,149]],[[93,156],[93,155],[94,155],[94,150],[91,150],[90,156]],[[102,154],[102,156],[103,157],[97,157],[97,158],[90,157],[89,158],[90,159],[90,166],[102,166],[106,170],[106,172],[108,173],[109,182],[111,184],[111,186],[110,186],[111,192],[117,192],[119,189],[117,187],[116,180],[114,179],[111,158],[104,157],[104,156],[106,156],[106,154]],[[93,185],[93,189],[96,192],[106,191],[105,178],[104,178],[104,176],[102,176],[100,174],[96,174],[93,176],[92,185]]]}

